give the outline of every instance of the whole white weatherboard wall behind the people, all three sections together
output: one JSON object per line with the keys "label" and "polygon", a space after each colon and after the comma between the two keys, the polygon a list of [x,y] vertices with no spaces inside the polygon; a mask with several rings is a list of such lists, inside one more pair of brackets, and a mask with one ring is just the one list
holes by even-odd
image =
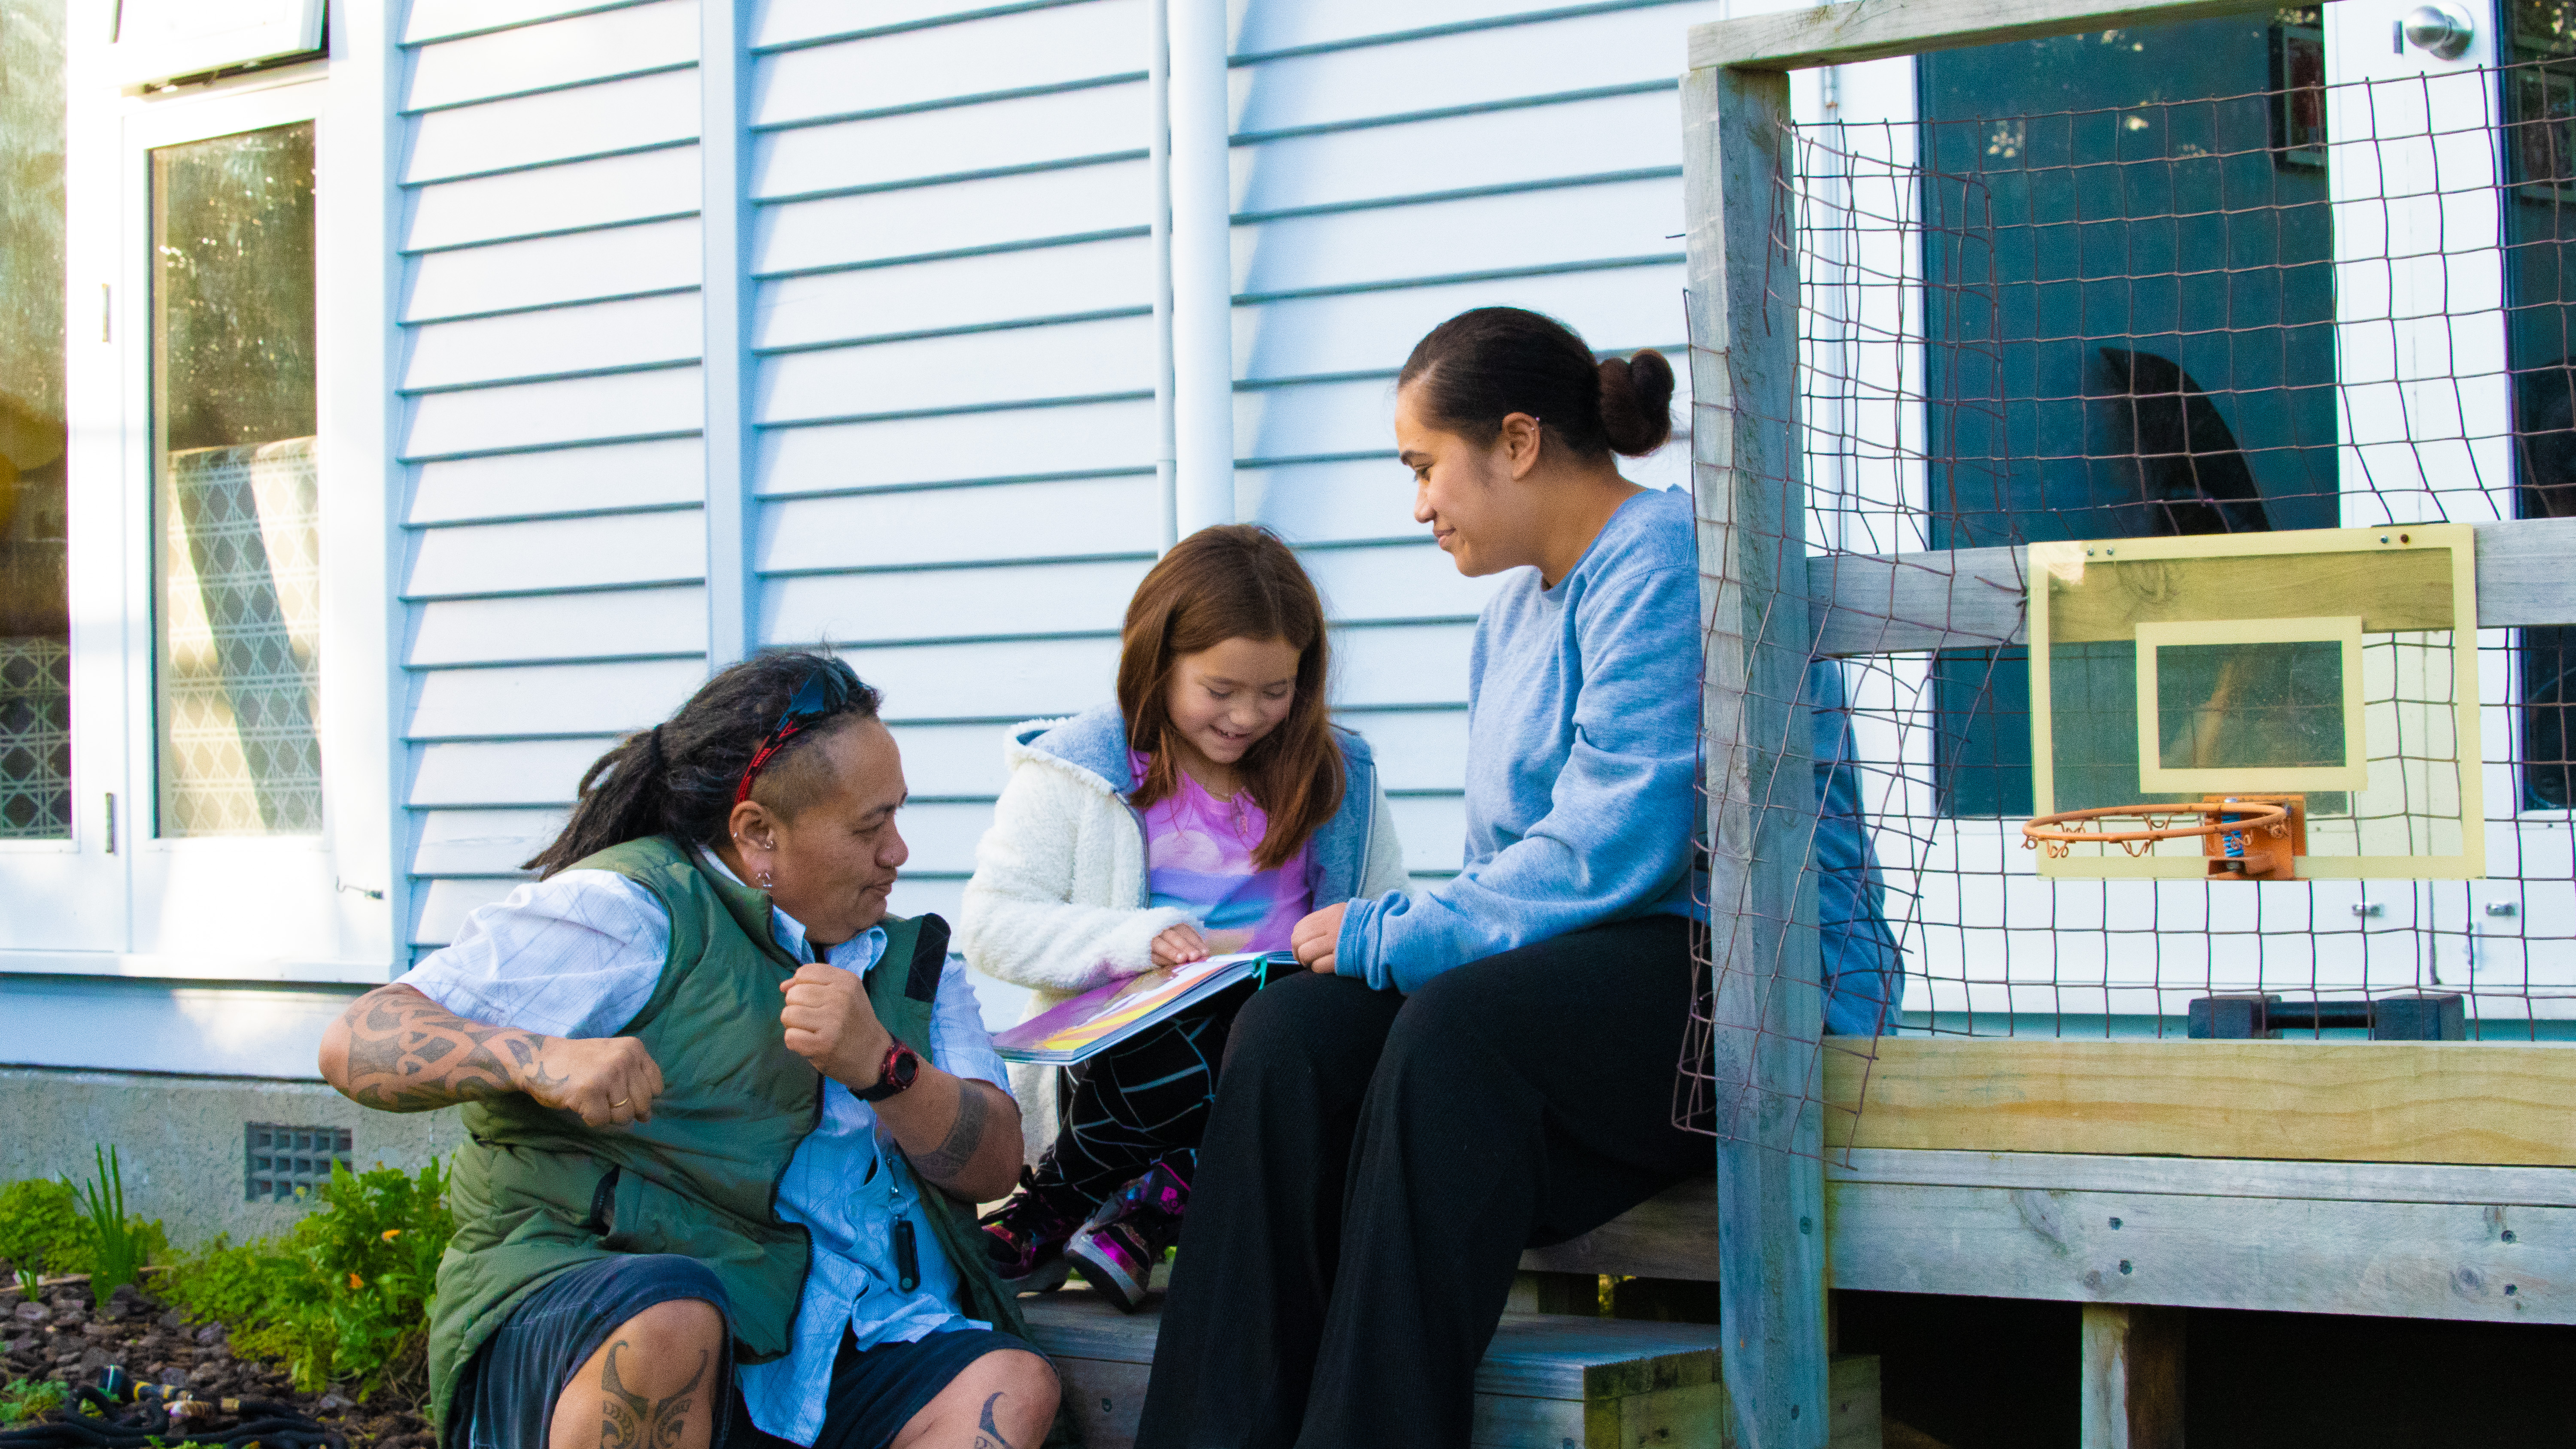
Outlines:
{"label": "whole white weatherboard wall behind the people, all three sections together", "polygon": [[[1458,867],[1492,584],[1409,517],[1394,368],[1492,301],[1682,363],[1672,77],[1713,15],[1236,5],[1239,517],[1321,584],[1337,705],[1422,878]],[[698,33],[688,0],[412,13],[422,947],[706,672]],[[744,33],[755,636],[886,690],[914,790],[896,906],[953,911],[1002,726],[1108,697],[1154,561],[1149,10],[773,0]],[[1682,458],[1631,476],[1677,484]]]}

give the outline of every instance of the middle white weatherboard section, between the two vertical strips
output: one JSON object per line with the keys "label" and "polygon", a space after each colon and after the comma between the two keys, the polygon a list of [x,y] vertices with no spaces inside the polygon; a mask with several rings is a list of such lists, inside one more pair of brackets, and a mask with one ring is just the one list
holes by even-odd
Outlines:
{"label": "middle white weatherboard section, between the two vertical strips", "polygon": [[752,26],[757,636],[886,692],[899,911],[956,914],[1002,726],[1108,697],[1154,564],[1149,21],[793,0]]}

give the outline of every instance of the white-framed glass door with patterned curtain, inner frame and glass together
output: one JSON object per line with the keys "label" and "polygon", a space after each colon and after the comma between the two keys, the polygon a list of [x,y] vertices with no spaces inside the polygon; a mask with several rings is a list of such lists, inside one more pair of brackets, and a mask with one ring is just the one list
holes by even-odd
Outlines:
{"label": "white-framed glass door with patterned curtain, inner frame and glass together", "polygon": [[134,947],[348,957],[325,764],[322,85],[126,124]]}

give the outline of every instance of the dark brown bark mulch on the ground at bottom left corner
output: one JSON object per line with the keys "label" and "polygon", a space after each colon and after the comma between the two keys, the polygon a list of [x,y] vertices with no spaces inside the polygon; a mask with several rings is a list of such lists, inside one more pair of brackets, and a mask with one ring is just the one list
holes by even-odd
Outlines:
{"label": "dark brown bark mulch on the ground at bottom left corner", "polygon": [[[348,1436],[350,1449],[433,1449],[422,1405],[379,1390],[355,1403],[355,1390],[296,1392],[286,1369],[234,1359],[222,1323],[193,1323],[180,1310],[137,1287],[116,1289],[106,1305],[90,1302],[88,1284],[46,1284],[36,1302],[18,1289],[0,1292],[0,1385],[59,1380],[95,1385],[111,1364],[144,1385],[183,1385],[193,1398],[260,1398],[294,1408]],[[193,1434],[222,1434],[234,1416],[191,1418]]]}

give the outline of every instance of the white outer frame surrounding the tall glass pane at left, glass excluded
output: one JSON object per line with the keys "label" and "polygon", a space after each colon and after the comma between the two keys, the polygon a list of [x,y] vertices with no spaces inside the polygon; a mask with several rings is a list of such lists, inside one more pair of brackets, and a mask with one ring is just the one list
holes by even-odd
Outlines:
{"label": "white outer frame surrounding the tall glass pane at left, glass excluded", "polygon": [[[80,950],[0,950],[0,973],[379,983],[402,965],[389,723],[402,685],[389,587],[397,546],[386,528],[386,67],[366,54],[381,23],[337,28],[340,62],[121,95],[106,26],[72,26],[67,391],[82,479],[72,489],[75,836],[8,842],[0,870],[70,852],[95,865],[93,875],[113,878],[118,909]],[[160,839],[149,152],[296,121],[314,124],[325,824],[312,836]],[[95,849],[108,790],[118,816],[113,854]],[[0,945],[13,942],[0,934]]]}

